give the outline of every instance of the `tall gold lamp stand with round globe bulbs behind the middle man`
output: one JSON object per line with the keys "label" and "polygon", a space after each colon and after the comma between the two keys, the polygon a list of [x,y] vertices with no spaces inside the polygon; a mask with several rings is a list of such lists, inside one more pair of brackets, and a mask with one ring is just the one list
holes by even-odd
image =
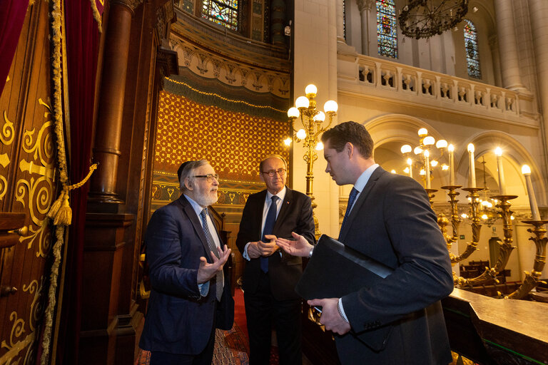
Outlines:
{"label": "tall gold lamp stand with round globe bulbs behind the middle man", "polygon": [[[305,88],[306,96],[299,96],[295,100],[295,106],[289,108],[288,118],[291,125],[291,133],[295,132],[293,137],[288,137],[284,140],[285,145],[291,145],[293,140],[295,142],[303,142],[305,153],[303,160],[306,162],[306,195],[312,200],[313,218],[315,224],[315,236],[318,239],[321,235],[320,225],[318,224],[318,217],[315,215],[315,207],[318,205],[314,201],[313,195],[313,180],[314,180],[314,161],[318,159],[317,150],[323,150],[323,143],[318,140],[321,133],[327,130],[331,123],[333,123],[333,117],[337,115],[338,105],[337,102],[330,100],[326,101],[323,105],[323,110],[316,108],[315,97],[318,93],[318,88],[315,85],[310,84]],[[323,125],[325,118],[328,118],[327,125]],[[295,120],[300,118],[300,122],[303,128],[295,130]]]}

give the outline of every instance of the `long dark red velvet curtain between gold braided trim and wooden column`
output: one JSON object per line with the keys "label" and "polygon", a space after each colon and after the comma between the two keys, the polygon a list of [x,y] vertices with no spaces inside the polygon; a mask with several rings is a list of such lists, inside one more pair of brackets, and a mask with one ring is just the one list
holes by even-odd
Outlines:
{"label": "long dark red velvet curtain between gold braided trim and wooden column", "polygon": [[[14,0],[16,1],[16,0]],[[91,165],[91,135],[99,33],[89,0],[64,1],[68,103],[71,110],[71,183],[81,181]],[[99,9],[102,11],[102,8]],[[64,294],[57,343],[57,364],[78,364],[81,324],[83,230],[89,184],[71,192],[72,225],[66,242]]]}

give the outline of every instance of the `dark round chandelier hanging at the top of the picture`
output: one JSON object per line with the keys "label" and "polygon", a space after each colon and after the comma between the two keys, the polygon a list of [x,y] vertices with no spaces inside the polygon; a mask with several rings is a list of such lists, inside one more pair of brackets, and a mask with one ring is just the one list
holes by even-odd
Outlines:
{"label": "dark round chandelier hanging at the top of the picture", "polygon": [[468,12],[468,0],[410,0],[398,17],[410,38],[430,38],[459,24]]}

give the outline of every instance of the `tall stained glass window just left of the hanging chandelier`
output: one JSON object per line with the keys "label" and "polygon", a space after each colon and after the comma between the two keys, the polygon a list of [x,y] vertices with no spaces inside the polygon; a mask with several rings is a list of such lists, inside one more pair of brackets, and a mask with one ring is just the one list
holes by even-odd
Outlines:
{"label": "tall stained glass window just left of the hanging chandelier", "polygon": [[377,43],[380,56],[397,58],[396,8],[393,0],[377,0]]}

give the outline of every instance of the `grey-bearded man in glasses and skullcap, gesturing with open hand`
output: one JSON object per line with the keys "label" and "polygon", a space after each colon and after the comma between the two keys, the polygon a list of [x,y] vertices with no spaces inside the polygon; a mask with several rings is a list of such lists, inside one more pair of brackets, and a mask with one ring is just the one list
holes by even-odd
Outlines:
{"label": "grey-bearded man in glasses and skullcap, gesturing with open hand", "polygon": [[139,346],[151,365],[210,365],[215,327],[230,329],[234,301],[223,265],[230,249],[207,207],[217,201],[218,175],[206,160],[178,170],[181,197],[148,222],[146,256],[151,297]]}

